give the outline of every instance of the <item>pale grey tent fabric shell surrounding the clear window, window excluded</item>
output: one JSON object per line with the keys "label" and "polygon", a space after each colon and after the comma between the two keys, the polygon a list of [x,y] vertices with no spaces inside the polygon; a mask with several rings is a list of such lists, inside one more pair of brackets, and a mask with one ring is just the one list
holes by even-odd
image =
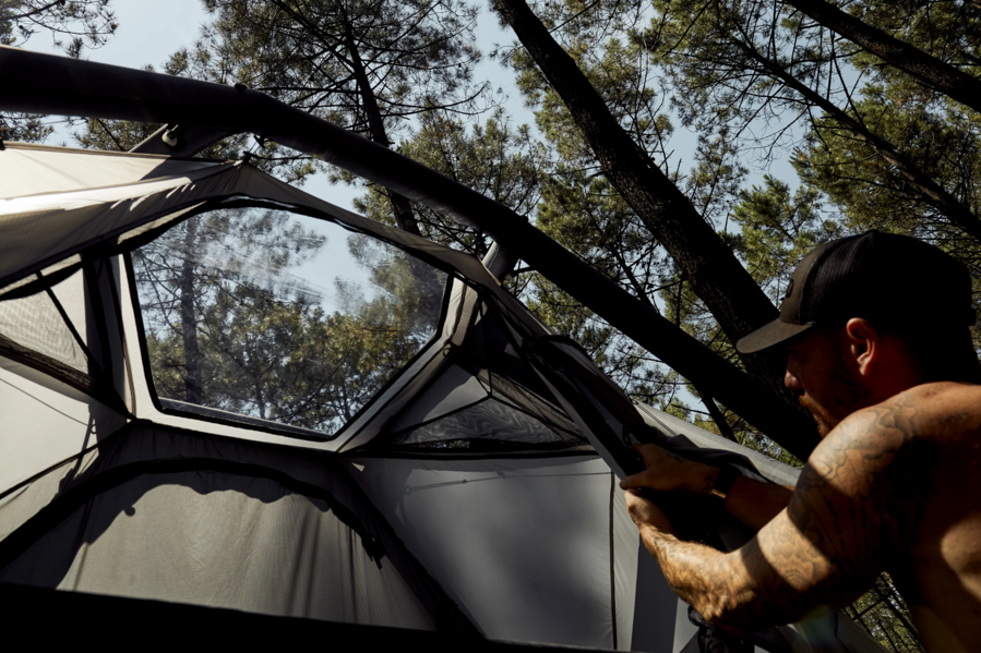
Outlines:
{"label": "pale grey tent fabric shell surrounding the clear window, window excluded", "polygon": [[[479,261],[241,162],[7,144],[0,180],[0,581],[603,649],[689,641],[610,464],[523,358],[548,331]],[[333,436],[156,394],[127,252],[229,198],[451,275],[429,343]]]}

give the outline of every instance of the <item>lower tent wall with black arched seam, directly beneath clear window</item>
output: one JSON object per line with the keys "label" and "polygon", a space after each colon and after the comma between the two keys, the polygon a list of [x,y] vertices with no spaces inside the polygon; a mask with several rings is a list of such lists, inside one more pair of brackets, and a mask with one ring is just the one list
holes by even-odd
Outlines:
{"label": "lower tent wall with black arched seam, directly beneath clear window", "polygon": [[135,422],[0,519],[2,582],[476,632],[331,455]]}

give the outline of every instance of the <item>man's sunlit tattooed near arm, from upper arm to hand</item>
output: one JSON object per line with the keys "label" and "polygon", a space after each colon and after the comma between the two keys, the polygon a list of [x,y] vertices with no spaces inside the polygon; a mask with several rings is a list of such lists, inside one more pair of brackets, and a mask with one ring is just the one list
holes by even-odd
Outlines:
{"label": "man's sunlit tattooed near arm, from upper arm to hand", "polygon": [[845,420],[815,449],[787,509],[729,554],[680,541],[637,494],[627,493],[627,507],[668,583],[716,625],[757,630],[847,605],[909,535],[887,513],[894,488],[885,470],[911,437],[916,412],[900,396]]}

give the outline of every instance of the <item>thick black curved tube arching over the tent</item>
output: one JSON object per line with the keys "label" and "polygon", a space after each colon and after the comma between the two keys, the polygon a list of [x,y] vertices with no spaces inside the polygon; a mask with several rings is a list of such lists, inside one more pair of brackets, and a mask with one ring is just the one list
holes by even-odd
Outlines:
{"label": "thick black curved tube arching over the tent", "polygon": [[813,423],[802,413],[526,218],[362,136],[242,85],[222,86],[5,46],[0,46],[0,78],[4,111],[194,125],[198,134],[213,131],[216,137],[248,132],[380,183],[487,233],[798,458],[805,460],[817,442]]}

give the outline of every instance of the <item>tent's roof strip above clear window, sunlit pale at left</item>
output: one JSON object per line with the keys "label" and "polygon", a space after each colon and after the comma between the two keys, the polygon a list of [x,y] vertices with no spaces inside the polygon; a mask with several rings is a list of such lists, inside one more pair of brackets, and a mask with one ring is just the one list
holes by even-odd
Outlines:
{"label": "tent's roof strip above clear window, sunlit pale at left", "polygon": [[307,207],[506,295],[474,256],[363,218],[241,161],[9,143],[0,152],[0,289],[86,247],[164,227],[202,202],[243,196]]}

